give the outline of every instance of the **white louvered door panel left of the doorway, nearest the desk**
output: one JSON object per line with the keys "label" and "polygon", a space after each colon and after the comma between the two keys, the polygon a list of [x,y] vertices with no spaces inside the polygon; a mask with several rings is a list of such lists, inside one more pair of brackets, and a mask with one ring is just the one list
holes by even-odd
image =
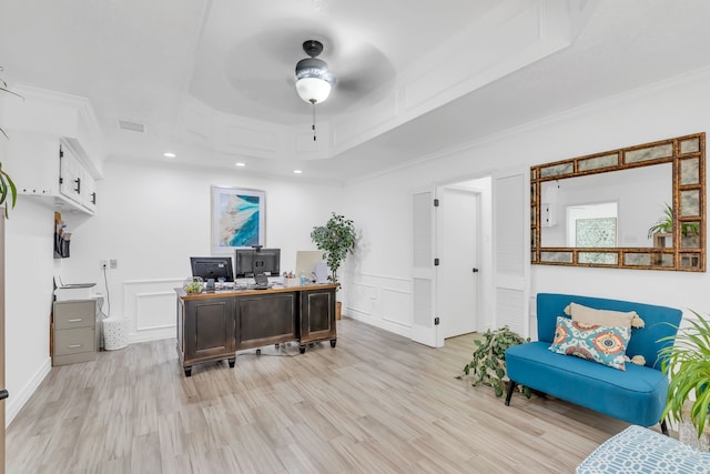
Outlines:
{"label": "white louvered door panel left of the doorway, nearest the desk", "polygon": [[435,314],[436,266],[434,191],[415,191],[412,195],[413,222],[413,312],[412,340],[432,347],[442,347],[444,336]]}

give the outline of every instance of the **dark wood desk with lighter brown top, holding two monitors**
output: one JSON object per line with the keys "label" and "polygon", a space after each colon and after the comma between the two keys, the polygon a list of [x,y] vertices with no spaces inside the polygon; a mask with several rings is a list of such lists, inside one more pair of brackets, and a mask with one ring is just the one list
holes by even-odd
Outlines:
{"label": "dark wood desk with lighter brown top, holding two monitors", "polygon": [[276,286],[270,290],[217,290],[178,293],[178,353],[185,371],[192,365],[226,359],[235,352],[298,341],[303,354],[307,344],[331,341],[335,347],[334,284]]}

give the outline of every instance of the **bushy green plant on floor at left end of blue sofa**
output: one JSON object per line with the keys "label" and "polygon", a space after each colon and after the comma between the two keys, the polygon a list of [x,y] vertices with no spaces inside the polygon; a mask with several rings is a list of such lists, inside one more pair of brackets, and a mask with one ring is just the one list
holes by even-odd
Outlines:
{"label": "bushy green plant on floor at left end of blue sofa", "polygon": [[[474,356],[471,361],[464,365],[464,373],[457,379],[470,377],[471,385],[491,386],[496,396],[503,396],[505,385],[509,382],[506,373],[506,349],[514,345],[529,342],[530,339],[523,339],[510,331],[508,326],[484,334],[484,339],[474,341]],[[530,389],[518,385],[518,389],[530,397]]]}

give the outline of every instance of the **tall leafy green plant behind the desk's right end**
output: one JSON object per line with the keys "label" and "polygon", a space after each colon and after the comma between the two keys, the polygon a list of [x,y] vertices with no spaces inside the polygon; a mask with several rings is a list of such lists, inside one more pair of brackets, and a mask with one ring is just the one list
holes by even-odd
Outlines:
{"label": "tall leafy green plant behind the desk's right end", "polygon": [[347,254],[355,249],[356,234],[353,221],[333,212],[325,225],[313,228],[311,239],[318,250],[324,251],[323,258],[331,270],[328,281],[337,284],[339,289],[337,269],[341,268]]}

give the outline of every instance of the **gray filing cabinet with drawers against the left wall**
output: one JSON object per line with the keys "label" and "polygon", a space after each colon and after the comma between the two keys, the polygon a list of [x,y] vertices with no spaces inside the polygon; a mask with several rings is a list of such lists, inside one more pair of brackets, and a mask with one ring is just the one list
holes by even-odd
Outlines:
{"label": "gray filing cabinet with drawers against the left wall", "polygon": [[52,365],[97,359],[97,300],[55,301]]}

